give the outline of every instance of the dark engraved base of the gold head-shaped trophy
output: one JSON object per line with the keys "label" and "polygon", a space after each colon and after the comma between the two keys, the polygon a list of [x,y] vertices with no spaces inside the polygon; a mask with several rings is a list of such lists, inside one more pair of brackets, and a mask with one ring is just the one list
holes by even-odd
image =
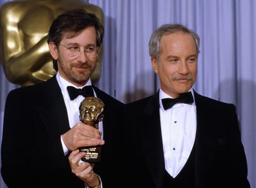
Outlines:
{"label": "dark engraved base of the gold head-shaped trophy", "polygon": [[80,152],[85,152],[85,156],[81,158],[81,161],[88,163],[98,163],[101,157],[101,146],[95,147],[80,147]]}

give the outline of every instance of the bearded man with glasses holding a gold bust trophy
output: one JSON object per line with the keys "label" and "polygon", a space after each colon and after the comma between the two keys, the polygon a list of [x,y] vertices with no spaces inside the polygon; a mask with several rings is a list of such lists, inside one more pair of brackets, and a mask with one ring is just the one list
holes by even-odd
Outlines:
{"label": "bearded man with glasses holding a gold bust trophy", "polygon": [[[103,34],[98,18],[85,10],[69,10],[53,21],[47,43],[57,74],[12,90],[6,99],[1,173],[8,187],[119,186],[111,172],[120,164],[123,104],[91,83]],[[80,121],[85,96],[104,103],[99,129]],[[102,147],[100,162],[81,162],[85,153],[78,149],[96,145]]]}

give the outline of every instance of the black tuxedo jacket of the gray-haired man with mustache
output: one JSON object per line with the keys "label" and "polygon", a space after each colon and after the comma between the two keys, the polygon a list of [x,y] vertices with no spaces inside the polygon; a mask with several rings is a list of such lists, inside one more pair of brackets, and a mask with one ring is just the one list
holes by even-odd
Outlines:
{"label": "black tuxedo jacket of the gray-haired man with mustache", "polygon": [[[125,105],[127,185],[132,187],[166,187],[158,98],[159,92]],[[196,92],[195,103],[195,185],[191,187],[250,187],[235,106]]]}

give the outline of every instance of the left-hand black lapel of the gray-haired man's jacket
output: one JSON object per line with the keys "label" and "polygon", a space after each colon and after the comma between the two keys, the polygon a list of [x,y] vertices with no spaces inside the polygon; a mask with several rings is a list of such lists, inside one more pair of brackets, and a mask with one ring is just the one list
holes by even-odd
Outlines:
{"label": "left-hand black lapel of the gray-haired man's jacket", "polygon": [[159,114],[159,92],[149,99],[138,125],[144,143],[144,154],[156,187],[164,187],[164,151]]}

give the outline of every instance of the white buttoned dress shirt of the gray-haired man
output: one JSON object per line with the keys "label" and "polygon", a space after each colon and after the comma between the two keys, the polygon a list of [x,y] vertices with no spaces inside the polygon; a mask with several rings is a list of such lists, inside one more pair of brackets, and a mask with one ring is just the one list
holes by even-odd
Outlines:
{"label": "white buttoned dress shirt of the gray-haired man", "polygon": [[[193,98],[193,90],[190,89]],[[197,110],[194,103],[177,103],[164,110],[162,98],[171,98],[161,89],[159,92],[160,123],[164,147],[165,170],[175,178],[182,170],[192,151],[197,131]]]}

